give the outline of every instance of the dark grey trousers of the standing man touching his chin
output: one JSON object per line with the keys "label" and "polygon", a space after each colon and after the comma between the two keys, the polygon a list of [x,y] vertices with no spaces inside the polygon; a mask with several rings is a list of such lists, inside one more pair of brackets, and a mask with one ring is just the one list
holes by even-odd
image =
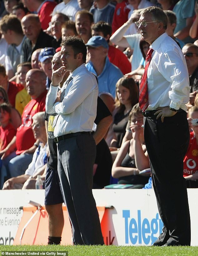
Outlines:
{"label": "dark grey trousers of the standing man touching his chin", "polygon": [[104,244],[92,194],[96,144],[91,134],[58,142],[58,174],[67,206],[74,244]]}

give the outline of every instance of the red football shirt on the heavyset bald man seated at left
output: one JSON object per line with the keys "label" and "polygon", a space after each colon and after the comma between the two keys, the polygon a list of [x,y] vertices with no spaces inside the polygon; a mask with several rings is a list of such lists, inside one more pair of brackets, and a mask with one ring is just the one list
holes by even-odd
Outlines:
{"label": "red football shirt on the heavyset bald man seated at left", "polygon": [[32,117],[38,112],[45,111],[45,99],[47,90],[44,91],[38,98],[32,99],[25,106],[22,113],[22,124],[17,128],[16,134],[16,154],[20,155],[24,150],[31,148],[35,143],[35,138],[32,132]]}

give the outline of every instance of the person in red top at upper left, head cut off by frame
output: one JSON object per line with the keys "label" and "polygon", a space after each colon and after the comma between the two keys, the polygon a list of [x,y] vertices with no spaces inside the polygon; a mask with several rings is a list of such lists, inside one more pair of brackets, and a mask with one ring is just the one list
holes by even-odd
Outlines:
{"label": "person in red top at upper left, head cut off by frame", "polygon": [[22,0],[22,3],[30,12],[37,12],[42,29],[47,29],[51,20],[52,11],[57,3],[43,0]]}

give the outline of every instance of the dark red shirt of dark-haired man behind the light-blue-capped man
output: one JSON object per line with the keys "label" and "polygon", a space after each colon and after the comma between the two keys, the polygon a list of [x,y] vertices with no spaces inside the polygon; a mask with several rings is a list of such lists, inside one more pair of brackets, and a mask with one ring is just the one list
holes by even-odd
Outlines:
{"label": "dark red shirt of dark-haired man behind the light-blue-capped man", "polygon": [[109,61],[116,67],[120,68],[123,75],[131,72],[131,63],[126,55],[121,50],[109,45],[108,50]]}

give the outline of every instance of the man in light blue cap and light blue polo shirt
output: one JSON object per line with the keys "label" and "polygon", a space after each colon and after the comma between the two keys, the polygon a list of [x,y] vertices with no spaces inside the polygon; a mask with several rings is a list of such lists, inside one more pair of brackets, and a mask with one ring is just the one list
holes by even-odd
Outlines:
{"label": "man in light blue cap and light blue polo shirt", "polygon": [[97,75],[99,94],[110,93],[115,98],[117,81],[123,76],[121,70],[110,63],[107,56],[109,45],[105,38],[94,36],[89,39],[87,46],[87,69]]}

